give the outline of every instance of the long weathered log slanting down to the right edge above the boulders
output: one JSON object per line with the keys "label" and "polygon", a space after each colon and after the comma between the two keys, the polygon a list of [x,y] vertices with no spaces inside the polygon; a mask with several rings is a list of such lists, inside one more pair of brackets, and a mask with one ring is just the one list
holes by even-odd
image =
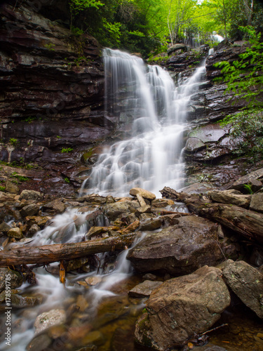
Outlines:
{"label": "long weathered log slanting down to the right edge above the boulders", "polygon": [[163,197],[182,201],[191,213],[221,223],[248,239],[263,243],[263,214],[245,208],[219,204],[210,201],[199,194],[176,192],[170,187],[160,190]]}

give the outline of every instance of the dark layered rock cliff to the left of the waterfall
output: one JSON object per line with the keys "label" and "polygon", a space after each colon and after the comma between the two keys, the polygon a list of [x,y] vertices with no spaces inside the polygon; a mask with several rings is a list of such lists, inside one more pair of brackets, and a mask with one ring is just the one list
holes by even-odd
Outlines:
{"label": "dark layered rock cliff to the left of the waterfall", "polygon": [[32,178],[49,175],[53,182],[38,180],[35,188],[55,188],[79,170],[73,166],[81,153],[112,133],[115,121],[103,112],[101,48],[62,24],[70,18],[67,2],[13,3],[1,5],[0,159],[36,162],[47,171]]}

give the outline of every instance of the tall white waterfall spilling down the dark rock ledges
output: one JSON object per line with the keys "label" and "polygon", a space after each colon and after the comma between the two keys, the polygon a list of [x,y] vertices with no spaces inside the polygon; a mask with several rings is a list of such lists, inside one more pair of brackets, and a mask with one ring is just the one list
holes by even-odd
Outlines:
{"label": "tall white waterfall spilling down the dark rock ledges", "polygon": [[179,190],[187,108],[205,66],[175,86],[161,67],[107,48],[104,69],[107,115],[119,118],[124,138],[104,148],[81,194],[126,196],[132,187],[142,187],[160,196],[164,186]]}

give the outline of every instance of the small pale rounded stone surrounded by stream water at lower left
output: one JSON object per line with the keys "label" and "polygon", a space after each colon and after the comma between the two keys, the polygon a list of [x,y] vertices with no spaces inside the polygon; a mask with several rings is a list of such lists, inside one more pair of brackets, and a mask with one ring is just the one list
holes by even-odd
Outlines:
{"label": "small pale rounded stone surrounded by stream water at lower left", "polygon": [[36,317],[34,322],[35,333],[40,333],[48,329],[50,326],[63,324],[66,322],[65,310],[50,310],[43,312]]}

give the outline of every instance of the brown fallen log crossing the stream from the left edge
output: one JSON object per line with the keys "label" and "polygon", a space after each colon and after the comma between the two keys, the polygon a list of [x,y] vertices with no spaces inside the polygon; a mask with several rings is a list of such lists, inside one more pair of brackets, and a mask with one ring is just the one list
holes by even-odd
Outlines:
{"label": "brown fallen log crossing the stream from the left edge", "polygon": [[0,266],[28,265],[32,263],[51,263],[72,260],[95,253],[123,250],[133,244],[136,233],[94,239],[79,243],[53,244],[43,246],[20,247],[0,251]]}

